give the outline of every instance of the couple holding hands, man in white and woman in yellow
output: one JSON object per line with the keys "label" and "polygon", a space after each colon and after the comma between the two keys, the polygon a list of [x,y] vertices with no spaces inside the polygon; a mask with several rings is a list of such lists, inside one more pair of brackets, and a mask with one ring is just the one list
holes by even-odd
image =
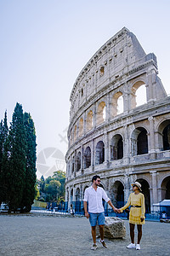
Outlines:
{"label": "couple holding hands, man in white and woman in yellow", "polygon": [[[117,209],[111,203],[111,200],[105,193],[105,190],[99,187],[101,180],[98,175],[95,175],[92,178],[92,186],[85,190],[84,194],[84,211],[86,218],[89,218],[91,228],[92,228],[92,237],[94,244],[91,247],[92,250],[97,249],[96,244],[96,225],[99,225],[99,234],[100,234],[100,243],[103,247],[107,248],[104,241],[104,225],[105,225],[105,210],[103,207],[102,199],[104,199],[114,210],[114,212],[121,213],[123,210],[127,209],[127,207],[131,206],[129,213],[129,226],[130,226],[130,237],[131,243],[127,246],[127,248],[136,248],[136,250],[140,250],[140,240],[142,237],[142,224],[144,224],[144,195],[140,193],[142,191],[141,184],[139,182],[132,183],[133,193],[131,193],[128,197],[127,204]],[[88,204],[88,207],[87,207]],[[137,224],[138,229],[138,241],[135,245],[134,243],[134,227]]]}

